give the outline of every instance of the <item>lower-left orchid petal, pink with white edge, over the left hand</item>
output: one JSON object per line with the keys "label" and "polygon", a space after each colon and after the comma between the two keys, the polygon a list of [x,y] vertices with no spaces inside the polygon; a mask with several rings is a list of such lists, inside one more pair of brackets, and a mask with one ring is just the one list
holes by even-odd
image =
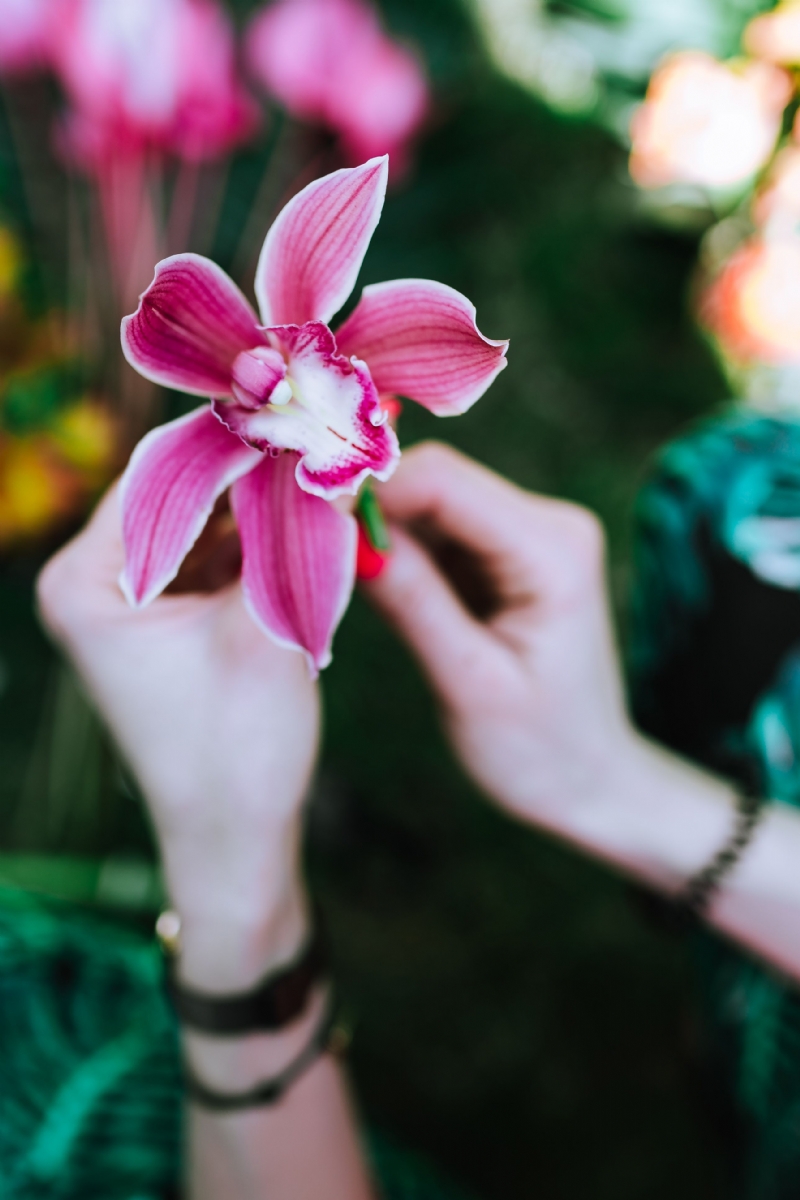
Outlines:
{"label": "lower-left orchid petal, pink with white edge, over the left hand", "polygon": [[260,460],[207,404],[139,442],[120,486],[120,587],[132,607],[150,604],[175,578],[217,497]]}

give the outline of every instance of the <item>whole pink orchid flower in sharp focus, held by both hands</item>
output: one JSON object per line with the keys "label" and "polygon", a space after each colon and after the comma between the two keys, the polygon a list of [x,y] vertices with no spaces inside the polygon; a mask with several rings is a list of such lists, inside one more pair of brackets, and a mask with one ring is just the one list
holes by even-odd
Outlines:
{"label": "whole pink orchid flower in sharp focus, held by both hands", "polygon": [[175,577],[230,487],[242,586],[255,622],[330,662],[355,577],[356,521],[331,504],[399,457],[381,395],[440,416],[465,412],[505,366],[463,295],[429,280],[367,287],[335,334],[380,217],[387,158],[318,179],[266,235],[255,276],[260,320],[212,262],[156,268],[122,322],[128,362],[156,383],[211,397],[152,430],[121,485],[121,587],[146,605]]}

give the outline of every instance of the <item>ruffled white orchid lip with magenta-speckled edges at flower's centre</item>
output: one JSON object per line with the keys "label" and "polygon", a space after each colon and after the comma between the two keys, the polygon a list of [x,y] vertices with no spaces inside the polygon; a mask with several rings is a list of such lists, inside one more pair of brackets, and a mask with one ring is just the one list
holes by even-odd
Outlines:
{"label": "ruffled white orchid lip with magenta-speckled edges at flower's centre", "polygon": [[355,496],[367,475],[389,479],[399,448],[366,365],[337,354],[319,322],[267,332],[288,359],[295,398],[257,412],[217,402],[219,420],[258,450],[297,451],[297,484],[323,499]]}

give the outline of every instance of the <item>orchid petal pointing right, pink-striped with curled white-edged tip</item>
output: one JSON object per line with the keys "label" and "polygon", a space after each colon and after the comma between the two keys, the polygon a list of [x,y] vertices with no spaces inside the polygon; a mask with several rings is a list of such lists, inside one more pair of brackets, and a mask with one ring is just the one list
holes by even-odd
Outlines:
{"label": "orchid petal pointing right, pink-striped with curled white-edged tip", "polygon": [[506,365],[507,341],[485,337],[467,296],[433,280],[374,283],[337,330],[339,353],[363,359],[379,392],[437,416],[464,413]]}

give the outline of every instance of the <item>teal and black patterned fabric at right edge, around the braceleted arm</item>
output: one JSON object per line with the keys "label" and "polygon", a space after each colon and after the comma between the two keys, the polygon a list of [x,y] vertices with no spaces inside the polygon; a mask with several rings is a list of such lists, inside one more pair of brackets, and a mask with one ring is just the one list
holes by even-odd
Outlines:
{"label": "teal and black patterned fabric at right edge, around the braceleted arm", "polygon": [[[639,497],[636,547],[640,724],[800,805],[800,424],[733,412],[668,446]],[[742,1194],[796,1200],[800,996],[709,934],[697,953]]]}

